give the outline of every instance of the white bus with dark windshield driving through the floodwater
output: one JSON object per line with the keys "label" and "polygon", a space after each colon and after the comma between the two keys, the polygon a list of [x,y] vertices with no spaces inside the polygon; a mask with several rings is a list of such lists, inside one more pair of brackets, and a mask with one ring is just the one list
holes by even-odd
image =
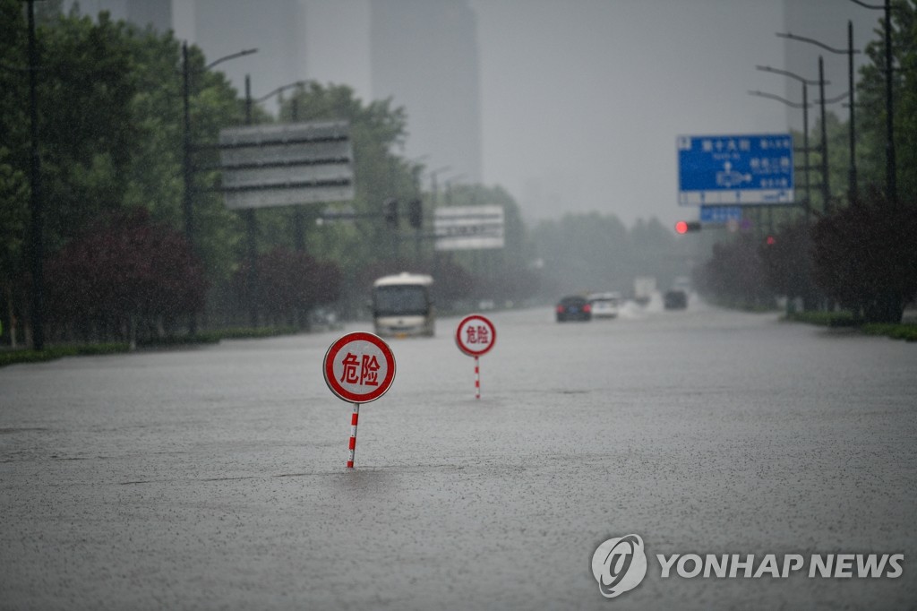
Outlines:
{"label": "white bus with dark windshield driving through the floodwater", "polygon": [[432,338],[436,320],[430,287],[433,277],[402,272],[372,283],[372,320],[380,337]]}

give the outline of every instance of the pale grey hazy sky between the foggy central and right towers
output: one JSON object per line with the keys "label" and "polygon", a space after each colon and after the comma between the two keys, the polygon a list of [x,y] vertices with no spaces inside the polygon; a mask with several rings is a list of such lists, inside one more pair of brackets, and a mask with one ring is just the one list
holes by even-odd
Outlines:
{"label": "pale grey hazy sky between the foggy central and right towers", "polygon": [[478,15],[483,175],[530,218],[677,205],[678,135],[780,132],[779,0],[470,0]]}

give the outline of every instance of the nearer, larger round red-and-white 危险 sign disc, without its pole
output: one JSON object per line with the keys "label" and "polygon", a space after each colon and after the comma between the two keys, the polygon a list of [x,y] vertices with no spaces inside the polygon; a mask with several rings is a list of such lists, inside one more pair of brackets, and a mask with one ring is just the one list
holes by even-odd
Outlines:
{"label": "nearer, larger round red-and-white \u5371\u9669 sign disc, without its pole", "polygon": [[395,357],[379,336],[358,331],[331,344],[322,371],[332,393],[352,403],[369,403],[392,385]]}

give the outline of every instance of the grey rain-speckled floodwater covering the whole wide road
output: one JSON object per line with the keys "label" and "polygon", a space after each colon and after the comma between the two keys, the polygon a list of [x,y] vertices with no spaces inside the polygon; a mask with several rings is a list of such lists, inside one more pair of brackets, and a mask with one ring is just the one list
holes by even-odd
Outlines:
{"label": "grey rain-speckled floodwater covering the whole wide road", "polygon": [[[321,373],[365,324],[0,369],[2,609],[917,606],[917,346],[692,305],[494,312],[473,359],[398,339],[359,416]],[[639,534],[635,590],[591,557]],[[903,553],[900,577],[660,576],[657,554]]]}

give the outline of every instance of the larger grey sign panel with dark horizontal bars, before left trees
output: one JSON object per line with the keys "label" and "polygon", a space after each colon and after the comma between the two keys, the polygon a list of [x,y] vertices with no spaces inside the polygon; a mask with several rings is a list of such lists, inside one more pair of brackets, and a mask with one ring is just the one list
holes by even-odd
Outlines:
{"label": "larger grey sign panel with dark horizontal bars, before left trees", "polygon": [[353,199],[347,121],[222,129],[218,148],[227,208]]}

